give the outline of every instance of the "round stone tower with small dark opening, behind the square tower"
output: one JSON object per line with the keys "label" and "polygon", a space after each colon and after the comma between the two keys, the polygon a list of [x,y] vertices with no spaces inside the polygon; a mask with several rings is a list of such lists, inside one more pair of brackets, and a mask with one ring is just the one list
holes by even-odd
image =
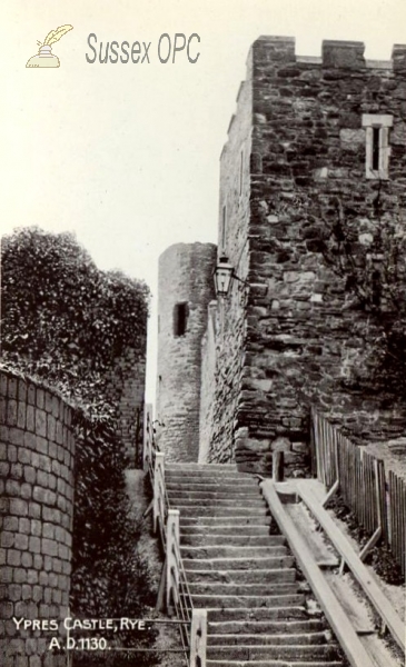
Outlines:
{"label": "round stone tower with small dark opening, behind the square tower", "polygon": [[159,258],[157,418],[170,461],[197,461],[201,339],[215,298],[214,243],[176,243]]}

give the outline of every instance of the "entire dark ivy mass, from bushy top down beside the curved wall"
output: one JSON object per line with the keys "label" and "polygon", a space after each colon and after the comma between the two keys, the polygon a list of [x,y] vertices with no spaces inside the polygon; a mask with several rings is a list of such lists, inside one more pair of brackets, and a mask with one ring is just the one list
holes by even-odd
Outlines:
{"label": "entire dark ivy mass, from bushy top down beside the curved wall", "polygon": [[[1,258],[3,365],[77,406],[71,611],[140,618],[152,605],[151,584],[136,549],[140,526],[126,495],[128,461],[107,386],[122,351],[143,349],[148,288],[121,272],[99,270],[71,233],[20,229],[3,237]],[[151,646],[154,637],[145,633],[141,643]],[[133,634],[113,637],[125,645],[136,640]],[[137,665],[156,664],[154,654],[121,651],[112,651],[108,664],[133,664],[133,656]],[[100,657],[85,654],[77,660],[96,665]]]}

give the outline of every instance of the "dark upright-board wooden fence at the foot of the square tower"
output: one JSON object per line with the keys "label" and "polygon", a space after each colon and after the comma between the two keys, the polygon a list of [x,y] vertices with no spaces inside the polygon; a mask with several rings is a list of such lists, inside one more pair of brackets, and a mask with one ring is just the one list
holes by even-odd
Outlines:
{"label": "dark upright-board wooden fence at the foot of the square tower", "polygon": [[330,489],[339,487],[345,505],[369,534],[384,539],[396,561],[406,570],[406,482],[382,459],[367,454],[315,410],[313,461],[317,478]]}

